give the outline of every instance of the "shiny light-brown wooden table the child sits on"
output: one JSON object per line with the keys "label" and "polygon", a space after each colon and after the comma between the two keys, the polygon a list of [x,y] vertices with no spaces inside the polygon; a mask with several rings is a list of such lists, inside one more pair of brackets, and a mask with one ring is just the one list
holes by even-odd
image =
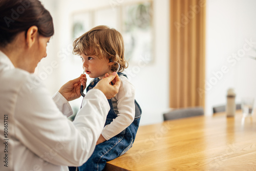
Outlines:
{"label": "shiny light-brown wooden table the child sits on", "polygon": [[225,113],[140,126],[134,145],[105,170],[256,170],[256,115]]}

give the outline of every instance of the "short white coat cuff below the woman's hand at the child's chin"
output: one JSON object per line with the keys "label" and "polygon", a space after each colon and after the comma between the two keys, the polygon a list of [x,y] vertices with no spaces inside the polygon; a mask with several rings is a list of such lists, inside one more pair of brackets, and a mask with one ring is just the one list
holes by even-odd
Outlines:
{"label": "short white coat cuff below the woman's hand at the child's chin", "polygon": [[56,92],[52,96],[53,101],[57,105],[58,109],[63,113],[63,115],[69,117],[73,115],[73,110],[68,102],[68,100],[63,97],[59,92]]}

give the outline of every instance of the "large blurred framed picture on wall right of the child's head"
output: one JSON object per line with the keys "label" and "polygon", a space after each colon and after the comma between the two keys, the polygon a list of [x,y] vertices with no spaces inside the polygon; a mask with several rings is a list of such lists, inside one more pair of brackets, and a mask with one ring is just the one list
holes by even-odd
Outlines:
{"label": "large blurred framed picture on wall right of the child's head", "polygon": [[123,5],[121,8],[125,58],[133,63],[141,58],[152,61],[153,2]]}

